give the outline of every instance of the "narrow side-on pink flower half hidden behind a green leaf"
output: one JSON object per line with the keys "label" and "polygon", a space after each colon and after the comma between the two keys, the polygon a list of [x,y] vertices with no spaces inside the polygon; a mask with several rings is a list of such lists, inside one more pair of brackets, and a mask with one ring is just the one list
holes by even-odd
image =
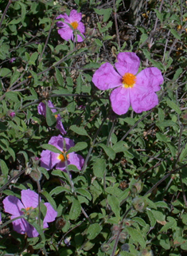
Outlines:
{"label": "narrow side-on pink flower half hidden behind a green leaf", "polygon": [[[53,103],[51,102],[51,100],[48,101],[48,106],[49,106],[49,108],[51,108],[51,111],[52,111],[53,113],[56,112],[56,109],[55,109]],[[40,115],[46,117],[46,106],[45,106],[45,103],[41,102],[40,104],[38,104],[38,106],[37,106],[37,111],[38,111],[38,113],[39,113]],[[55,117],[56,117],[56,128],[59,129],[59,131],[61,132],[61,134],[63,134],[63,135],[66,134],[66,131],[65,131],[65,129],[64,129],[64,125],[63,125],[62,122],[61,122],[61,116],[60,116],[60,114],[55,115]]]}

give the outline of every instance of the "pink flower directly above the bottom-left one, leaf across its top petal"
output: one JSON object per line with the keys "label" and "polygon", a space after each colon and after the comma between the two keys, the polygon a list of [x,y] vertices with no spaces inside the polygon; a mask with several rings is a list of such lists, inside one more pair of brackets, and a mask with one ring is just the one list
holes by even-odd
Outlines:
{"label": "pink flower directly above the bottom-left one, leaf across its top petal", "polygon": [[49,144],[58,148],[60,152],[62,152],[62,154],[54,153],[49,150],[43,150],[41,152],[41,167],[44,167],[48,171],[53,169],[53,167],[56,167],[56,169],[59,169],[61,171],[66,171],[66,167],[64,163],[65,162],[64,154],[65,154],[67,163],[73,164],[77,167],[77,169],[81,170],[81,168],[84,165],[83,156],[80,156],[75,152],[69,153],[68,155],[66,154],[69,148],[72,148],[75,145],[72,140],[68,138],[63,138],[63,136],[60,136],[60,135],[53,136],[49,140]]}

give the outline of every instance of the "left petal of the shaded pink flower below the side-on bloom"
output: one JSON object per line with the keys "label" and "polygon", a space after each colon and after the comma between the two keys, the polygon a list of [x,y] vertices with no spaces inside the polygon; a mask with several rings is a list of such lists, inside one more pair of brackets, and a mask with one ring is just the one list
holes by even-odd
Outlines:
{"label": "left petal of the shaded pink flower below the side-on bloom", "polygon": [[44,167],[47,171],[52,170],[56,163],[60,161],[58,156],[59,154],[57,153],[43,150],[41,152],[41,167]]}

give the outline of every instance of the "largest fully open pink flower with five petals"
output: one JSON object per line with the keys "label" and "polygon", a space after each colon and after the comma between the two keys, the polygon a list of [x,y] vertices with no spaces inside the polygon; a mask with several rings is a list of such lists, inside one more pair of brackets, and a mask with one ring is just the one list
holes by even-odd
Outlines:
{"label": "largest fully open pink flower with five petals", "polygon": [[155,92],[160,90],[159,85],[164,81],[161,71],[157,68],[146,68],[138,73],[140,60],[135,53],[119,53],[117,59],[115,69],[118,73],[110,63],[104,63],[92,78],[98,89],[117,87],[110,96],[113,111],[123,115],[130,104],[137,113],[154,108],[158,104]]}

